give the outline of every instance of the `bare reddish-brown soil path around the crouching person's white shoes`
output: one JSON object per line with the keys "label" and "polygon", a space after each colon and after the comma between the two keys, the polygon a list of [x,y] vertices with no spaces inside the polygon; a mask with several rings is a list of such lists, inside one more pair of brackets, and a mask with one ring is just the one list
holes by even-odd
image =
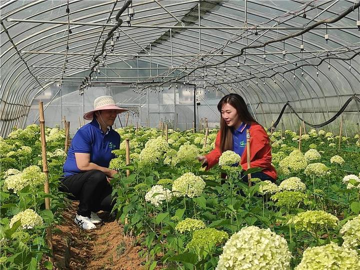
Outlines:
{"label": "bare reddish-brown soil path around the crouching person's white shoes", "polygon": [[[63,213],[64,222],[53,230],[54,264],[57,269],[143,269],[140,246],[124,236],[123,229],[107,213],[99,213],[101,224],[82,230],[73,219],[77,203]],[[67,248],[69,246],[69,248]],[[69,252],[68,252],[69,250]]]}

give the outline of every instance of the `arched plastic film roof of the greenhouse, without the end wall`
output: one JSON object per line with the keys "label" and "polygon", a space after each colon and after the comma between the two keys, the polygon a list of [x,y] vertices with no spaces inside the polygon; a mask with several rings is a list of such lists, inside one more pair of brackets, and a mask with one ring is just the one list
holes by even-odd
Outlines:
{"label": "arched plastic film roof of the greenhouse, without the end wall", "polygon": [[[1,135],[24,125],[32,100],[53,83],[83,84],[125,2],[1,1]],[[129,1],[134,16],[127,23],[128,9],[122,12],[123,22],[106,42],[106,55],[97,58],[95,70],[111,70],[115,63],[125,67],[107,77],[99,70],[96,80],[97,73],[92,73],[92,84],[126,82],[141,93],[149,85],[189,83],[224,94],[237,92],[254,108],[266,104],[279,112],[286,101],[293,101],[299,112],[330,116],[334,107],[360,93],[358,5],[358,0]],[[349,8],[335,22],[289,36]],[[136,60],[151,63],[148,76],[137,77]],[[122,76],[128,71],[124,68],[134,70],[133,75]],[[360,121],[358,105],[350,109]]]}

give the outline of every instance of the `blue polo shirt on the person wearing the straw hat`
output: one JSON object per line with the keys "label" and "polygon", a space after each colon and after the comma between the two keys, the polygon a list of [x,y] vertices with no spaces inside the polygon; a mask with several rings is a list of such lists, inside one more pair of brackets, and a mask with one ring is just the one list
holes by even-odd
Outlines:
{"label": "blue polo shirt on the person wearing the straw hat", "polygon": [[111,127],[103,132],[100,124],[94,118],[91,122],[80,127],[72,138],[62,169],[64,177],[82,172],[76,165],[75,153],[89,153],[90,162],[108,167],[110,160],[114,158],[111,151],[118,149],[119,146],[120,135]]}

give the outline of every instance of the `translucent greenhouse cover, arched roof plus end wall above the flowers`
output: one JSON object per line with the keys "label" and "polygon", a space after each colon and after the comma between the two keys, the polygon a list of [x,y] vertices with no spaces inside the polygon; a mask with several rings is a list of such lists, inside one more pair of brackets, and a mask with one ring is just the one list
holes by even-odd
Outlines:
{"label": "translucent greenhouse cover, arched roof plus end wall above the flowers", "polygon": [[[126,119],[157,126],[162,119],[184,129],[206,117],[215,127],[216,104],[229,92],[241,94],[267,127],[287,101],[307,122],[324,122],[360,94],[359,4],[1,0],[0,135],[36,122],[39,100],[46,125],[61,125],[66,116],[74,132],[103,94],[130,110],[117,126]],[[331,22],[309,27],[325,19]],[[89,76],[96,54],[99,62]],[[352,100],[342,114],[346,132],[358,132],[359,106]],[[282,127],[297,129],[299,121],[285,109]]]}

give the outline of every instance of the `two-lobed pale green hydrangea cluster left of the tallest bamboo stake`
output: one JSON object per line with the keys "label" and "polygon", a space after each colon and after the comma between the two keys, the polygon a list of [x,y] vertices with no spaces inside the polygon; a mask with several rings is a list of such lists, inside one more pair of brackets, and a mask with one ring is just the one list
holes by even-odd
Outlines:
{"label": "two-lobed pale green hydrangea cluster left of the tallest bamboo stake", "polygon": [[[16,171],[12,171],[15,173]],[[4,190],[12,190],[17,193],[27,185],[36,187],[37,185],[43,184],[46,180],[46,175],[43,173],[38,166],[31,165],[24,168],[22,172],[11,174],[4,180]]]}

